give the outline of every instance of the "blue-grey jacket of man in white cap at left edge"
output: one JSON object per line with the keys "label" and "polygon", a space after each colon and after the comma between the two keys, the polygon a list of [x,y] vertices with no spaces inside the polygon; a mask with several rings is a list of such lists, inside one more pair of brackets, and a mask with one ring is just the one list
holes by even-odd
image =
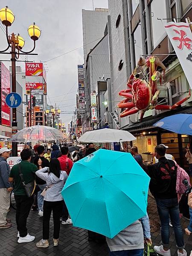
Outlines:
{"label": "blue-grey jacket of man in white cap at left edge", "polygon": [[4,157],[0,157],[0,189],[10,188],[11,184],[8,181],[10,167]]}

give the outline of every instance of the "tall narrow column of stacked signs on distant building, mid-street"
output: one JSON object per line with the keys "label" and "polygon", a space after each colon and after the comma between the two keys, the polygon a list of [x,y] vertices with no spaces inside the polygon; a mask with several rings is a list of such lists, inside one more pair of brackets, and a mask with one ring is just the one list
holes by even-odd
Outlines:
{"label": "tall narrow column of stacked signs on distant building, mid-street", "polygon": [[79,92],[79,114],[85,113],[85,95],[84,95],[84,68],[78,65],[78,92]]}

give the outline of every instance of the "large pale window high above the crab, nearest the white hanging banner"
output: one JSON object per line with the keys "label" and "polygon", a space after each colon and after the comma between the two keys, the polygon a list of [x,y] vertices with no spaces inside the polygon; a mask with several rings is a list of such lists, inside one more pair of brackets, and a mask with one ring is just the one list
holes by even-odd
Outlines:
{"label": "large pale window high above the crab, nearest the white hanging banner", "polygon": [[166,0],[153,0],[149,15],[151,15],[151,45],[154,49],[166,35],[163,23],[161,20],[157,20],[157,18],[166,18]]}

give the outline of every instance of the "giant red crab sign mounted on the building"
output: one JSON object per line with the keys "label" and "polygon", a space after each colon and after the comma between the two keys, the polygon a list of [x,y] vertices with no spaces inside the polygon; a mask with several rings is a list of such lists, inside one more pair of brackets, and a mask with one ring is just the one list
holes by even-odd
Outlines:
{"label": "giant red crab sign mounted on the building", "polygon": [[[138,67],[149,68],[149,79],[146,80],[146,76],[143,79],[139,79],[139,74],[137,73]],[[169,105],[158,105],[157,99],[160,94],[160,90],[157,89],[157,79],[160,79],[160,85],[162,80],[162,74],[157,71],[157,67],[163,70],[163,78],[165,75],[166,67],[157,58],[157,56],[150,56],[146,60],[140,57],[137,62],[137,67],[134,69],[133,73],[129,77],[126,90],[121,90],[119,96],[124,97],[117,107],[126,108],[120,114],[120,117],[125,117],[132,115],[141,111],[140,120],[143,119],[145,111],[149,109],[156,110],[168,110],[175,109],[187,99],[191,97],[191,91],[189,90],[189,95],[172,106]],[[145,70],[146,70],[145,68]]]}

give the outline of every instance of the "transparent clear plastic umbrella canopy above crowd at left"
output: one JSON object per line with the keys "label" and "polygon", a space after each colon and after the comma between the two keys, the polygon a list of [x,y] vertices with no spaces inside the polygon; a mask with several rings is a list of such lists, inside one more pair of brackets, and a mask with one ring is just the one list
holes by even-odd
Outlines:
{"label": "transparent clear plastic umbrella canopy above crowd at left", "polygon": [[39,142],[39,141],[51,141],[60,140],[63,138],[61,131],[49,126],[35,125],[26,127],[17,134],[15,134],[11,140],[12,142]]}

